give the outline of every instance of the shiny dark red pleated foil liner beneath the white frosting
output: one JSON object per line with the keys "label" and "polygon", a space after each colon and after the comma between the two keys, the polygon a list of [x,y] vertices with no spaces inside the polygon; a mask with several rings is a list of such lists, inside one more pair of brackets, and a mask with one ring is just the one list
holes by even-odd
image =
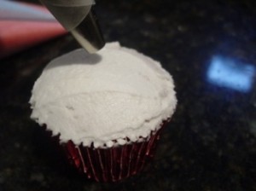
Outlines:
{"label": "shiny dark red pleated foil liner beneath the white frosting", "polygon": [[97,182],[117,182],[143,170],[147,160],[153,157],[160,130],[151,132],[143,142],[113,148],[93,148],[62,143],[67,158],[80,172]]}

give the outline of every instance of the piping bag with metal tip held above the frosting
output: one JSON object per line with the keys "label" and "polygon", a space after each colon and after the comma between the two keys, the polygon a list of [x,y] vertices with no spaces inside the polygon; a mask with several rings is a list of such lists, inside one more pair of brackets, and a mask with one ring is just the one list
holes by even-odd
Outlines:
{"label": "piping bag with metal tip held above the frosting", "polygon": [[93,10],[94,0],[40,0],[90,54],[105,45]]}

